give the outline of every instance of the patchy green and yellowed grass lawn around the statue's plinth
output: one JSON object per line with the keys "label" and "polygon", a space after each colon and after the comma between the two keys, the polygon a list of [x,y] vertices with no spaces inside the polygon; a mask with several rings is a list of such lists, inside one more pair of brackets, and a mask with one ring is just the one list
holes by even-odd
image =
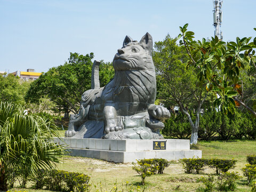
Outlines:
{"label": "patchy green and yellowed grass lawn around the statue's plinth", "polygon": [[[199,142],[199,149],[202,150],[204,158],[227,158],[236,159],[237,164],[234,170],[241,176],[241,168],[246,164],[246,156],[256,154],[256,141],[201,141]],[[57,169],[82,172],[91,177],[92,184],[91,191],[110,191],[115,183],[117,191],[127,187],[140,185],[140,176],[132,170],[131,163],[109,163],[98,159],[84,158],[84,157],[64,157],[63,162],[58,164]],[[199,177],[207,176],[207,174],[214,174],[213,169],[206,169],[201,174],[186,174],[179,162],[171,162],[171,165],[164,170],[164,174],[151,175],[146,178],[145,191],[196,191],[202,183],[197,183]],[[217,176],[214,175],[217,179]],[[100,184],[101,183],[101,184]],[[95,188],[96,187],[96,188]],[[140,186],[142,189],[143,187]],[[245,185],[245,178],[238,180],[237,189],[235,191],[250,191],[251,187]],[[49,191],[49,190],[33,190],[33,189],[18,189],[26,191]],[[134,190],[136,191],[136,190]]]}

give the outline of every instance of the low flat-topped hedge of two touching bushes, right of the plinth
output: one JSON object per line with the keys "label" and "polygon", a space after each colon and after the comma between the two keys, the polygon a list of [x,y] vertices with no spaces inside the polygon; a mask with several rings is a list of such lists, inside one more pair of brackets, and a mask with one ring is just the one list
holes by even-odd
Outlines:
{"label": "low flat-topped hedge of two touching bushes, right of the plinth", "polygon": [[180,160],[183,164],[183,169],[185,173],[196,173],[199,174],[203,167],[209,166],[216,169],[216,174],[220,172],[227,172],[228,170],[235,167],[236,160],[234,159],[205,159],[205,158],[183,158]]}

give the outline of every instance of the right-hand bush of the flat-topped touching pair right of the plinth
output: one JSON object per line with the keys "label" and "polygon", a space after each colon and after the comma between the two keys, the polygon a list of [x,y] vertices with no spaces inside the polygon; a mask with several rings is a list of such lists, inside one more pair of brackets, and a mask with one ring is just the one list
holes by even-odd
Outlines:
{"label": "right-hand bush of the flat-topped touching pair right of the plinth", "polygon": [[218,159],[218,158],[212,158],[209,159],[207,162],[207,165],[211,168],[216,169],[216,174],[218,175],[221,172],[227,172],[230,169],[233,169],[236,165],[235,159]]}

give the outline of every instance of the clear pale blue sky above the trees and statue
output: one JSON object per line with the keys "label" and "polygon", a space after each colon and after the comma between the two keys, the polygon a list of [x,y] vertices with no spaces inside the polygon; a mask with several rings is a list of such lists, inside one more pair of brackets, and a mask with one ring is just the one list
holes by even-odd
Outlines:
{"label": "clear pale blue sky above the trees and statue", "polygon": [[[224,41],[256,36],[255,0],[223,0]],[[212,0],[0,0],[0,71],[46,72],[69,52],[112,61],[123,39],[176,37],[189,23],[196,39],[214,35]],[[93,60],[94,60],[93,59]]]}

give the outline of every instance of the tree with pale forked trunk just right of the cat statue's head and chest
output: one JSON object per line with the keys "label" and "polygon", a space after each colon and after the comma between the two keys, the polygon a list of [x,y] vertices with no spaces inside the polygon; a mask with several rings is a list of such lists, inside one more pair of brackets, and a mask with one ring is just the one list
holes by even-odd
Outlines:
{"label": "tree with pale forked trunk just right of the cat statue's head and chest", "polygon": [[[179,106],[188,118],[191,126],[191,143],[197,143],[197,132],[201,107],[206,99],[202,83],[197,81],[196,68],[188,67],[189,60],[184,46],[176,44],[177,39],[167,35],[163,42],[155,43],[153,60],[157,73],[157,98],[165,106]],[[196,118],[193,122],[189,110],[195,108]]]}

